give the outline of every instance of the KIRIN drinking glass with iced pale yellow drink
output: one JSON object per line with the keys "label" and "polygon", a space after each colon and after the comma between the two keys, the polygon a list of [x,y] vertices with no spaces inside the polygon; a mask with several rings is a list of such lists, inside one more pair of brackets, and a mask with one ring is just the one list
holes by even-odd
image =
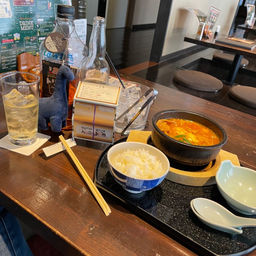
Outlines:
{"label": "KIRIN drinking glass with iced pale yellow drink", "polygon": [[0,75],[10,142],[28,146],[36,142],[40,78],[28,72]]}

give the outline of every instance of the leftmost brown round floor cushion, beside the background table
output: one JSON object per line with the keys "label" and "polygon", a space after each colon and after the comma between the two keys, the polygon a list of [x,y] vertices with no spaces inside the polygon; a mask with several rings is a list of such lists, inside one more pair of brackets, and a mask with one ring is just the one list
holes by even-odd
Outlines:
{"label": "leftmost brown round floor cushion, beside the background table", "polygon": [[173,79],[185,87],[202,92],[218,92],[223,87],[219,79],[196,70],[178,70]]}

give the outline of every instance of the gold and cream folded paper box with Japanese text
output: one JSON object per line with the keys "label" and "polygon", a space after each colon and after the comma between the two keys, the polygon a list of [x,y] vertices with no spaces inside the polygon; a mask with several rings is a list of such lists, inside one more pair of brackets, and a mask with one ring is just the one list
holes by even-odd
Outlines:
{"label": "gold and cream folded paper box with Japanese text", "polygon": [[73,103],[73,138],[113,144],[120,92],[119,86],[80,82]]}

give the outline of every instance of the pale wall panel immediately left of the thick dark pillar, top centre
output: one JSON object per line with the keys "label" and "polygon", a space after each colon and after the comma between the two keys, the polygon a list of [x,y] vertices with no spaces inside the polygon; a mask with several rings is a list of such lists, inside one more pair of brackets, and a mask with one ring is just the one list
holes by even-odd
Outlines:
{"label": "pale wall panel immediately left of the thick dark pillar, top centre", "polygon": [[156,23],[160,0],[135,1],[132,25]]}

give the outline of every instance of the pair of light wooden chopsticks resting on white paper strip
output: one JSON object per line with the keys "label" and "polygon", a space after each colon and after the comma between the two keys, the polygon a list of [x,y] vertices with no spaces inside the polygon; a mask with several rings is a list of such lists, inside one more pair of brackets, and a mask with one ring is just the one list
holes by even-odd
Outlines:
{"label": "pair of light wooden chopsticks resting on white paper strip", "polygon": [[89,175],[87,174],[87,172],[84,170],[84,167],[82,166],[82,164],[79,162],[79,160],[77,159],[76,155],[74,154],[74,152],[71,150],[71,148],[68,146],[68,143],[66,142],[66,140],[63,138],[62,135],[59,136],[60,141],[62,142],[63,146],[66,148],[69,156],[72,158],[72,160],[74,161],[74,163],[76,164],[76,167],[78,169],[78,171],[80,172],[80,174],[82,175],[82,177],[84,178],[84,181],[86,182],[86,184],[88,185],[88,187],[90,188],[93,196],[96,198],[97,202],[100,204],[100,207],[102,208],[103,212],[106,214],[106,216],[109,215],[109,213],[111,213],[111,210],[108,206],[108,204],[106,203],[106,201],[104,200],[104,198],[101,196],[100,191],[98,190],[98,188],[96,188],[96,186],[94,185],[94,183],[92,182],[92,180],[90,179]]}

